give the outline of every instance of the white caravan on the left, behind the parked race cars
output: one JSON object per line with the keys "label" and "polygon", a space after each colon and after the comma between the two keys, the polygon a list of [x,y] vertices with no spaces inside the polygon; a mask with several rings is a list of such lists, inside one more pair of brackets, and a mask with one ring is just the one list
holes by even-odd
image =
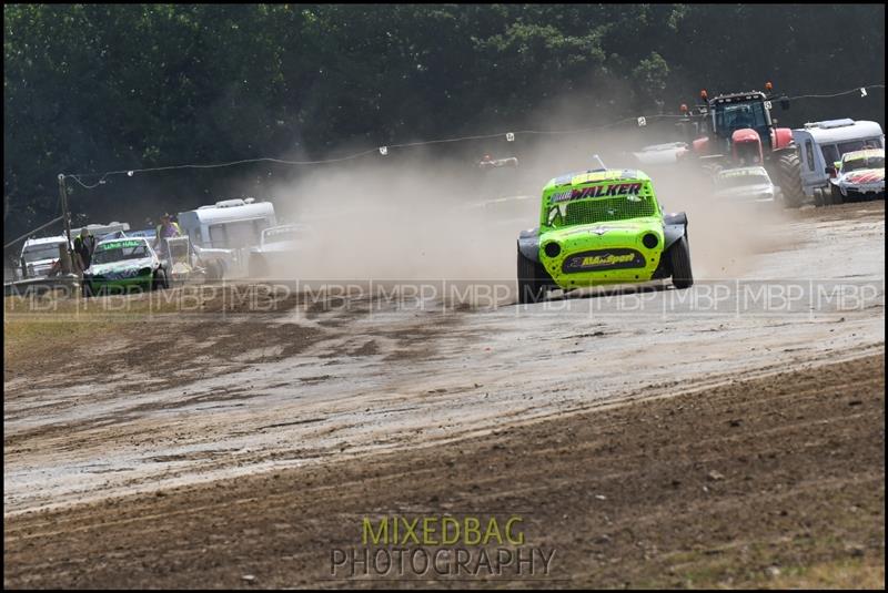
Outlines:
{"label": "white caravan on the left, behind the parked race cars", "polygon": [[201,259],[218,262],[229,277],[248,273],[250,248],[261,245],[262,232],[276,224],[274,204],[252,197],[179,213],[179,227]]}

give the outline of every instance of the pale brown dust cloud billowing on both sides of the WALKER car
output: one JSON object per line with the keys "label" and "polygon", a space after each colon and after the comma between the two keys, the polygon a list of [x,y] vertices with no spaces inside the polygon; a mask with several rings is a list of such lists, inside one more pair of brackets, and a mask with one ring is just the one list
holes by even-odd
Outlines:
{"label": "pale brown dust cloud billowing on both sides of the WALKER car", "polygon": [[[537,121],[539,130],[556,119]],[[564,129],[564,125],[561,125]],[[660,139],[658,139],[660,140]],[[668,139],[667,139],[668,140]],[[672,139],[677,140],[677,139]],[[664,141],[664,140],[660,140]],[[514,282],[516,238],[537,225],[545,183],[569,171],[635,168],[638,131],[523,135],[471,144],[393,151],[329,168],[315,168],[279,186],[275,207],[304,225],[302,245],[278,264],[278,278],[313,280]],[[484,154],[516,156],[517,168],[481,171]],[[666,212],[685,211],[695,277],[725,279],[754,270],[754,255],[773,248],[767,237],[783,224],[780,206],[739,207],[713,198],[698,170],[642,167]],[[764,249],[763,249],[764,247]]]}

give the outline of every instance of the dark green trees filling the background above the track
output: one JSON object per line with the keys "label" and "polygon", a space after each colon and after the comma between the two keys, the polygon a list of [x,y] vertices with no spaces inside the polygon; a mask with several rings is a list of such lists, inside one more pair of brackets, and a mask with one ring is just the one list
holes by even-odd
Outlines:
{"label": "dark green trees filling the background above the track", "polygon": [[[4,4],[4,229],[53,215],[60,172],[322,157],[500,131],[555,100],[602,120],[700,88],[881,82],[884,22],[877,4]],[[884,93],[819,109],[793,123],[882,121]],[[193,207],[238,193],[232,175],[74,185],[72,206]]]}

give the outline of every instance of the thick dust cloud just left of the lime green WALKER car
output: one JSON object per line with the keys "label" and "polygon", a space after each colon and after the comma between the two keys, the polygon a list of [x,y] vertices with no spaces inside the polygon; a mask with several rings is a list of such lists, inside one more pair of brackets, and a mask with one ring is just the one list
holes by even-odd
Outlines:
{"label": "thick dust cloud just left of the lime green WALKER car", "polygon": [[410,155],[315,173],[276,192],[305,225],[283,277],[303,279],[509,279],[515,241],[538,216],[542,183],[525,200],[515,170],[482,172],[466,160]]}

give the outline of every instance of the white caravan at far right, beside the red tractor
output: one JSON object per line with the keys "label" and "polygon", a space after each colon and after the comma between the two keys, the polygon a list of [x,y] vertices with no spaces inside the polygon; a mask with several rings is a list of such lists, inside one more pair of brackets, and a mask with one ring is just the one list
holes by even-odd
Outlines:
{"label": "white caravan at far right, beside the red tractor", "polygon": [[829,178],[845,153],[885,149],[885,133],[878,123],[850,119],[806,123],[804,129],[793,130],[793,140],[798,146],[801,187],[817,205],[828,203]]}

